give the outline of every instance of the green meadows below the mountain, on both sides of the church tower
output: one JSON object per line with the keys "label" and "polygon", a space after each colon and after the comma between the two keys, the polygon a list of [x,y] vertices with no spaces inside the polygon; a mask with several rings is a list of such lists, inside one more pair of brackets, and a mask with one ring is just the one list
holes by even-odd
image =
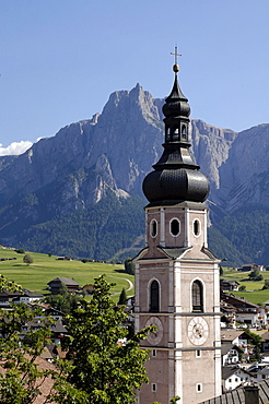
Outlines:
{"label": "green meadows below the mountain, on both sides of the church tower", "polygon": [[[116,283],[114,287],[115,297],[122,287],[128,296],[134,295],[134,276],[124,272],[124,265],[103,264],[95,262],[82,263],[81,261],[59,261],[56,256],[30,252],[33,257],[33,264],[26,265],[23,262],[24,254],[13,250],[0,249],[1,258],[16,258],[16,260],[0,261],[0,274],[33,292],[47,293],[47,283],[55,277],[74,278],[81,286],[93,283],[98,275],[105,274],[108,282]],[[234,292],[234,295],[244,297],[254,304],[264,304],[269,299],[269,289],[261,290],[265,280],[269,280],[269,271],[262,272],[264,280],[248,281],[249,272],[237,272],[231,269],[223,269],[223,278],[237,281],[246,286],[246,292]]]}

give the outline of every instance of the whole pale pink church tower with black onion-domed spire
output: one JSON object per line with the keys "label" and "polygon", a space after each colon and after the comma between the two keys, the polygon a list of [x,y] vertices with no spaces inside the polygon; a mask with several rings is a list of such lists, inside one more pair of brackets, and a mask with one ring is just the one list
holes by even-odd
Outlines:
{"label": "whole pale pink church tower with black onion-domed spire", "polygon": [[207,178],[189,153],[188,99],[175,81],[163,106],[164,151],[143,181],[145,248],[136,257],[136,329],[150,383],[140,404],[197,404],[221,394],[220,260],[208,249]]}

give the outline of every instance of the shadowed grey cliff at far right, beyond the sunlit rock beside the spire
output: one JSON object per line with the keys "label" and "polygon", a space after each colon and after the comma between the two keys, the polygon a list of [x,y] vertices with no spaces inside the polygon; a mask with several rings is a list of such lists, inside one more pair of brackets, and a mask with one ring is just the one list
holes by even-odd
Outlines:
{"label": "shadowed grey cliff at far right, beyond the sunlit rock beside the spire", "polygon": [[215,202],[225,212],[241,206],[269,205],[269,124],[259,124],[238,134],[229,158],[220,167],[220,190]]}

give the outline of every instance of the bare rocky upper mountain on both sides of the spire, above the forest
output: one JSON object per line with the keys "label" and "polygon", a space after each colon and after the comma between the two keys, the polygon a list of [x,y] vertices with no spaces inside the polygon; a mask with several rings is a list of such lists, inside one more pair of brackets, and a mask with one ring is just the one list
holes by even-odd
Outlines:
{"label": "bare rocky upper mountain on both sides of the spire, above the forest", "polygon": [[[91,120],[62,128],[21,156],[0,157],[0,206],[34,194],[52,217],[97,203],[107,190],[119,199],[142,195],[142,180],[162,153],[162,105],[137,84],[113,93]],[[210,181],[209,199],[222,212],[268,204],[269,179],[261,163],[268,155],[268,124],[236,133],[194,119],[190,143]],[[24,212],[36,222],[38,203]]]}

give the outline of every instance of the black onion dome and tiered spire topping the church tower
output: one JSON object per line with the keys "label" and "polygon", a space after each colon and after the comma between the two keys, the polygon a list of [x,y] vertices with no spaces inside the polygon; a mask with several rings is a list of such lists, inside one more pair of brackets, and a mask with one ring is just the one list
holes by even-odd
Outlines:
{"label": "black onion dome and tiered spire topping the church tower", "polygon": [[175,81],[163,106],[165,142],[160,161],[143,181],[143,192],[151,203],[203,202],[209,194],[207,177],[192,161],[188,142],[190,107],[177,80],[179,67],[174,64]]}

